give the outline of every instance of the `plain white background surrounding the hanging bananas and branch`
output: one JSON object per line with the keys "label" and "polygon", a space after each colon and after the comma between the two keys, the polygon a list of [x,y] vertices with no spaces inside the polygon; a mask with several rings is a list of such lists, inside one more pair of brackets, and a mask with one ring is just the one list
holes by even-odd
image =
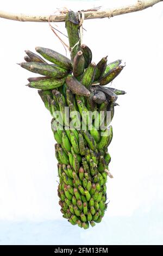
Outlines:
{"label": "plain white background surrounding the hanging bananas and branch", "polygon": [[[1,1],[17,13],[53,14],[57,8],[87,9],[135,1]],[[37,90],[26,86],[32,74],[16,63],[35,46],[64,47],[48,23],[0,20],[1,133],[0,243],[162,244],[162,25],[163,4],[111,19],[84,21],[83,42],[96,63],[123,59],[126,67],[112,87],[118,97],[108,181],[108,211],[89,230],[62,220],[57,196],[57,161],[51,116]],[[66,33],[64,23],[58,29]],[[64,40],[66,38],[64,37]]]}

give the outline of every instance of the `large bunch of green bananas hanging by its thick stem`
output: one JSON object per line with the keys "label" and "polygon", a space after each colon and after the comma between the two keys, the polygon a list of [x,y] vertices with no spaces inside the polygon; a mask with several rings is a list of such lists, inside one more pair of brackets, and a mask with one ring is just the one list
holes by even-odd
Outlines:
{"label": "large bunch of green bananas hanging by its thick stem", "polygon": [[68,12],[65,24],[71,59],[51,49],[36,47],[36,52],[46,60],[26,51],[26,62],[20,65],[42,75],[28,78],[27,86],[39,89],[53,117],[62,216],[72,225],[87,229],[89,224],[94,227],[102,221],[107,208],[110,122],[118,105],[117,97],[125,92],[105,86],[124,66],[121,60],[107,64],[107,56],[96,65],[90,48],[80,45],[78,15]]}

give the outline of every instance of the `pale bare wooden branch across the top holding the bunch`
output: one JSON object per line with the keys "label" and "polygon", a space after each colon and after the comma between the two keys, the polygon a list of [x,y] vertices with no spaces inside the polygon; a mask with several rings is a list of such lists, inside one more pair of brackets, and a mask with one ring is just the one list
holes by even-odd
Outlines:
{"label": "pale bare wooden branch across the top holding the bunch", "polygon": [[[141,11],[148,7],[152,7],[154,4],[162,2],[163,0],[144,0],[137,1],[133,5],[126,5],[118,8],[111,8],[106,10],[93,10],[93,11],[84,11],[84,19],[102,19],[102,18],[110,18],[121,14],[133,13],[134,11]],[[65,21],[66,14],[59,15],[45,15],[45,16],[35,16],[28,14],[12,14],[7,13],[5,11],[0,10],[0,17],[8,20],[15,21],[34,21],[34,22],[48,22],[50,17],[50,21],[61,22]]]}

